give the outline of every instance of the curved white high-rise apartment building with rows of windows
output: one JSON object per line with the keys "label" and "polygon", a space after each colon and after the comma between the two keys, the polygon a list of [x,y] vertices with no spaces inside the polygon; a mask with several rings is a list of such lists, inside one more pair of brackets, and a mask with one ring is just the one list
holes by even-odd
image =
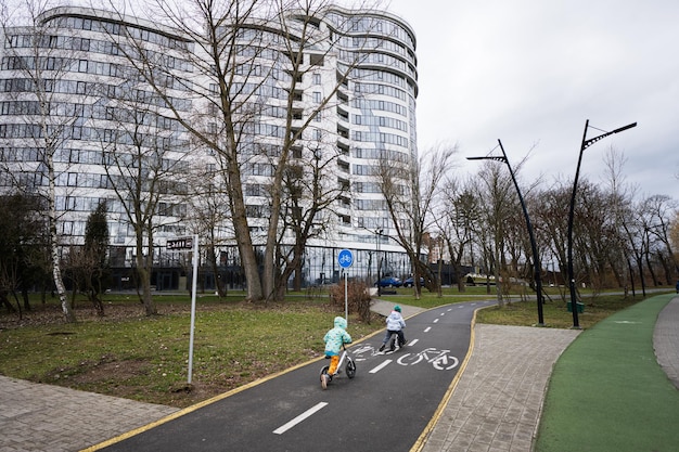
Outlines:
{"label": "curved white high-rise apartment building with rows of windows", "polygon": [[[312,18],[285,15],[266,26],[253,23],[252,33],[239,35],[239,63],[223,66],[230,101],[244,100],[232,145],[253,241],[257,245],[266,230],[267,186],[276,159],[287,150],[289,173],[302,180],[322,170],[321,186],[340,193],[317,217],[322,231],[308,242],[304,280],[336,280],[342,248],[356,251],[353,275],[373,277],[377,260],[383,273],[407,274],[408,259],[389,240],[393,220],[375,175],[384,162],[408,166],[417,159],[414,33],[386,12],[333,8]],[[139,214],[153,206],[145,214],[156,224],[156,266],[176,266],[177,254],[165,241],[191,231],[194,209],[206,207],[208,193],[228,182],[217,146],[225,133],[219,99],[225,90],[208,70],[205,46],[156,23],[81,8],[50,10],[38,25],[4,30],[2,190],[39,192],[53,179],[64,245],[81,243],[87,217],[105,201],[117,267],[131,264],[130,216],[142,218]],[[292,70],[286,43],[309,25],[313,41]],[[399,182],[403,190],[409,183]],[[280,193],[291,218],[309,204],[287,203],[295,192],[293,184]],[[144,211],[131,211],[132,205]],[[219,260],[235,268],[229,212],[222,220],[215,225],[221,234]],[[294,241],[287,224],[281,223],[281,234]],[[174,276],[158,277],[158,288],[176,285]],[[236,275],[229,279],[238,282]]]}

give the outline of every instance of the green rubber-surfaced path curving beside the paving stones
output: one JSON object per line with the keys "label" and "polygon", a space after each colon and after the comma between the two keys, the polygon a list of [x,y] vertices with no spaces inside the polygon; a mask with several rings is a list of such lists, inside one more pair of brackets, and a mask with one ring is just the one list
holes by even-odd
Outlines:
{"label": "green rubber-surfaced path curving beside the paving stones", "polygon": [[653,351],[672,297],[619,311],[571,344],[554,365],[536,452],[679,451],[679,390]]}

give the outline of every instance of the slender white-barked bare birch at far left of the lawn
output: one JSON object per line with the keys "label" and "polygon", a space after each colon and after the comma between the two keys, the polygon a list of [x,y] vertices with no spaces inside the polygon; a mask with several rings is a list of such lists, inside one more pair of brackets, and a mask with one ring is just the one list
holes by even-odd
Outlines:
{"label": "slender white-barked bare birch at far left of the lawn", "polygon": [[[2,3],[4,54],[9,68],[15,72],[12,86],[5,92],[14,95],[13,117],[20,120],[9,127],[3,139],[21,140],[24,144],[17,144],[17,148],[24,148],[26,142],[31,142],[33,148],[38,150],[35,159],[26,160],[24,155],[17,155],[16,160],[5,160],[5,164],[12,169],[11,173],[18,175],[15,186],[38,193],[46,199],[52,279],[65,321],[75,322],[76,315],[66,296],[61,268],[63,248],[57,224],[56,185],[67,171],[60,152],[69,140],[77,138],[80,130],[78,121],[82,120],[78,112],[68,112],[67,100],[73,94],[64,90],[69,73],[78,64],[79,50],[73,39],[60,39],[51,33],[49,24],[41,17],[49,8],[50,1],[40,0],[25,0],[21,4]],[[15,18],[29,25],[14,26]],[[65,56],[64,49],[71,49],[68,56]]]}

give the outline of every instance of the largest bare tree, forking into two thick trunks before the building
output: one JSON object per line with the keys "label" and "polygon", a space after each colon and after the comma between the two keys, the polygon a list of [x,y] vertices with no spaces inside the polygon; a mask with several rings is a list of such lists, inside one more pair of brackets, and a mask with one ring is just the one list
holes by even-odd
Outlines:
{"label": "largest bare tree, forking into two thick trunks before the building", "polygon": [[[277,275],[281,277],[276,250],[282,236],[281,196],[293,148],[309,146],[316,118],[342,102],[337,100],[340,88],[346,86],[369,51],[380,46],[366,39],[353,52],[337,48],[347,25],[337,23],[344,21],[343,14],[333,14],[331,7],[325,0],[156,1],[149,5],[150,16],[187,37],[189,44],[180,51],[191,72],[182,75],[169,72],[161,61],[130,59],[189,130],[194,144],[219,160],[252,300],[274,296]],[[330,62],[335,63],[326,64]],[[303,88],[317,74],[323,89],[319,99],[310,99]],[[191,114],[176,107],[158,86],[158,75],[171,77],[190,90]],[[202,82],[195,83],[196,78]],[[269,138],[262,140],[262,135]],[[244,190],[248,183],[257,183],[260,175],[269,178],[270,199],[266,216],[251,223]],[[264,246],[261,277],[257,245]]]}

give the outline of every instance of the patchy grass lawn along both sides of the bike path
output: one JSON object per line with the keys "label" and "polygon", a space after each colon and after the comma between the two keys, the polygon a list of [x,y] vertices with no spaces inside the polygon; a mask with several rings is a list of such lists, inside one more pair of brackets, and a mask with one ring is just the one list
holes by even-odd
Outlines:
{"label": "patchy grass lawn along both sides of the bike path", "polygon": [[[494,298],[485,287],[465,293],[447,288],[444,296],[400,288],[383,299],[433,308]],[[0,314],[0,374],[133,400],[184,408],[290,366],[320,358],[325,332],[343,308],[331,307],[321,293],[289,294],[282,304],[243,302],[231,292],[219,300],[202,295],[196,302],[192,385],[188,382],[191,297],[154,297],[158,315],[146,317],[134,295],[106,295],[104,318],[85,300],[76,304],[78,323],[65,324],[54,299],[17,314]],[[637,300],[599,296],[586,301],[585,328]],[[565,301],[545,305],[546,326],[569,327]],[[379,330],[349,315],[349,333],[359,340]],[[478,312],[478,322],[533,325],[535,301],[512,302]]]}

